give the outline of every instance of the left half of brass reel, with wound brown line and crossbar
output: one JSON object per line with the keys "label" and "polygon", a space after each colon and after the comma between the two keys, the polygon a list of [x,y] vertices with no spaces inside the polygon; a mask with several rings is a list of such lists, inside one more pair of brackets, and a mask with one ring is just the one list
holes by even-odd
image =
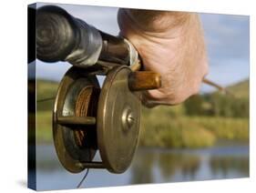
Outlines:
{"label": "left half of brass reel, with wound brown line and crossbar", "polygon": [[72,67],[63,77],[53,112],[53,137],[57,156],[68,171],[84,170],[97,150],[97,100],[100,87],[96,76]]}

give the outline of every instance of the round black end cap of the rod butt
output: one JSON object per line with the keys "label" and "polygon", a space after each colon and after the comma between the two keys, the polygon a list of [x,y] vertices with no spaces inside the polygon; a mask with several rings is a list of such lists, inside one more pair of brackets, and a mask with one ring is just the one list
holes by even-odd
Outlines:
{"label": "round black end cap of the rod butt", "polygon": [[45,62],[65,58],[77,45],[77,25],[64,9],[46,5],[36,12],[36,57]]}

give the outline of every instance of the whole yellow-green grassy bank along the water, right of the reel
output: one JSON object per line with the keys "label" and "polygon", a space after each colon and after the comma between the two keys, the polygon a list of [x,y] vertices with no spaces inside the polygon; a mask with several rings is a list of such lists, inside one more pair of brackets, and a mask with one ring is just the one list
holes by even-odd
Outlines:
{"label": "whole yellow-green grassy bank along the water, right of the reel", "polygon": [[144,109],[140,145],[146,147],[210,147],[219,139],[249,140],[249,119],[188,117],[182,107]]}

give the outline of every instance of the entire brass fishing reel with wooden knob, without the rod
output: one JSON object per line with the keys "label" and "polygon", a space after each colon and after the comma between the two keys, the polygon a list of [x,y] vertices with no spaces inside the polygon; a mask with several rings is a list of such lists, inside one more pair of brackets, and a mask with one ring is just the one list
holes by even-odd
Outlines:
{"label": "entire brass fishing reel with wooden knob, without the rod", "polygon": [[[155,77],[155,85],[139,83],[138,77],[145,75]],[[159,86],[154,73],[116,66],[100,89],[95,74],[71,67],[59,85],[53,113],[56,153],[64,168],[73,173],[85,168],[124,172],[138,145],[141,102],[137,91],[150,86]],[[93,161],[97,150],[101,162]]]}

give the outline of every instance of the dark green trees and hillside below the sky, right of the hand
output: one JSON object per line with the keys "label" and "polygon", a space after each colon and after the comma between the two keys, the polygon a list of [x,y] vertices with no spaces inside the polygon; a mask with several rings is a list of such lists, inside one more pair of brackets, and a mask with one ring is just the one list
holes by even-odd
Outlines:
{"label": "dark green trees and hillside below the sky, right of the hand", "polygon": [[192,96],[183,105],[188,116],[249,117],[249,81],[228,87],[232,95],[214,92]]}

